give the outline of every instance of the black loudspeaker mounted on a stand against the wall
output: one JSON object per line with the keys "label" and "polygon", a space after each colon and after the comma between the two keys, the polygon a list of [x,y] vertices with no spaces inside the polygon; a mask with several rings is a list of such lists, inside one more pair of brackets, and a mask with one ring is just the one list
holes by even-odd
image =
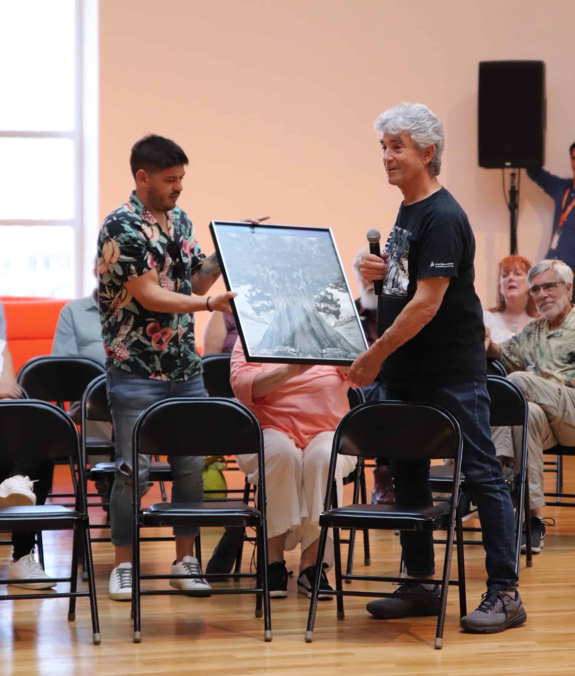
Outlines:
{"label": "black loudspeaker mounted on a stand against the wall", "polygon": [[545,164],[545,64],[479,64],[479,166],[488,169]]}

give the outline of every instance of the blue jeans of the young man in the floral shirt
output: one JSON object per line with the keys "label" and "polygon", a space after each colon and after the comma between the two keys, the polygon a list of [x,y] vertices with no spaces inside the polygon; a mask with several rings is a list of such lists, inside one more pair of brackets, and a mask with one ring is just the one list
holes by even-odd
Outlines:
{"label": "blue jeans of the young man in the floral shirt", "polygon": [[[132,544],[132,432],[142,411],[174,397],[205,397],[201,374],[186,381],[159,381],[126,373],[118,368],[106,372],[106,391],[116,439],[116,476],[110,497],[111,541],[116,547]],[[192,428],[190,428],[192,430]],[[190,435],[190,443],[193,437]],[[203,500],[201,456],[168,456],[172,468],[172,502]],[[139,456],[140,485],[149,477],[151,456]],[[199,529],[174,528],[178,537],[195,537]]]}

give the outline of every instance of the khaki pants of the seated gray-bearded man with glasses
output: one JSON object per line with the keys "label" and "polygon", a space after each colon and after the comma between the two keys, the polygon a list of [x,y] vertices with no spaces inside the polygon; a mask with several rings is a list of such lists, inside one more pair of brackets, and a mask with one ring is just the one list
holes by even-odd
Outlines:
{"label": "khaki pants of the seated gray-bearded man with glasses", "polygon": [[[545,505],[543,497],[543,451],[558,443],[575,446],[575,389],[550,383],[524,371],[508,376],[524,393],[529,406],[527,471],[529,506]],[[498,456],[521,460],[521,427],[492,427],[491,436]]]}

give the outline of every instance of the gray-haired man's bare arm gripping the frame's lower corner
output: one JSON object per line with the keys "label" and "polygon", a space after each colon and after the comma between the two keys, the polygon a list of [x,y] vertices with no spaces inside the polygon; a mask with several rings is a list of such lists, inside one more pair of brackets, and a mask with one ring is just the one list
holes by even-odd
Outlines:
{"label": "gray-haired man's bare arm gripping the frame's lower corner", "polygon": [[427,277],[418,281],[414,297],[401,310],[391,327],[370,349],[355,358],[347,376],[349,383],[355,387],[366,387],[374,382],[389,355],[417,335],[434,318],[450,281],[450,277]]}

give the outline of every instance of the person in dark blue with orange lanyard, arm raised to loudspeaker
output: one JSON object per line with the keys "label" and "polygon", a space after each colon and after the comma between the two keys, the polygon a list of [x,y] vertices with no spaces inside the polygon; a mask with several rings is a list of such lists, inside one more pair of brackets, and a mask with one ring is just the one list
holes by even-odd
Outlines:
{"label": "person in dark blue with orange lanyard, arm raised to loudspeaker", "polygon": [[575,270],[575,143],[569,148],[572,178],[555,176],[541,167],[528,168],[527,175],[555,202],[553,231],[547,259],[562,260]]}

